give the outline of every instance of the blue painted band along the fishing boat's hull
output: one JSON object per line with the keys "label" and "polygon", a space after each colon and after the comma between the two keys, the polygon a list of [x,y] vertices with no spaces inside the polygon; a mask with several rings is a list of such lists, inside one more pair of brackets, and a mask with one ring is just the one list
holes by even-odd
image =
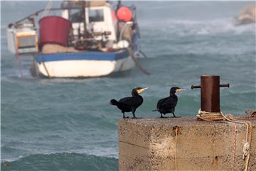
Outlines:
{"label": "blue painted band along the fishing boat's hull", "polygon": [[38,54],[36,62],[51,62],[60,60],[121,60],[129,57],[127,50],[119,50],[113,53],[83,51],[78,53],[54,53],[54,54]]}

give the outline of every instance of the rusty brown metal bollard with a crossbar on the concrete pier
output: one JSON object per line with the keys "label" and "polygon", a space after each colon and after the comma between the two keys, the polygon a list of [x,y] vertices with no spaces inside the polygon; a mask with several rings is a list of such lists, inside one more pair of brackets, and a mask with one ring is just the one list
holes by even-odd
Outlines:
{"label": "rusty brown metal bollard with a crossbar on the concrete pier", "polygon": [[201,85],[191,86],[191,89],[201,88],[201,111],[220,112],[220,87],[230,84],[220,84],[218,75],[202,75]]}

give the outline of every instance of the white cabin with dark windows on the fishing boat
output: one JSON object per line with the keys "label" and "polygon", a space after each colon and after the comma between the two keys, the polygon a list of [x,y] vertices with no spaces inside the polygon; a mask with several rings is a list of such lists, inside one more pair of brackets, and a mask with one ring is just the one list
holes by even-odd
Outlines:
{"label": "white cabin with dark windows on the fishing boat", "polygon": [[87,34],[96,40],[117,40],[117,18],[106,1],[63,1],[61,8],[62,17],[72,22],[75,38]]}

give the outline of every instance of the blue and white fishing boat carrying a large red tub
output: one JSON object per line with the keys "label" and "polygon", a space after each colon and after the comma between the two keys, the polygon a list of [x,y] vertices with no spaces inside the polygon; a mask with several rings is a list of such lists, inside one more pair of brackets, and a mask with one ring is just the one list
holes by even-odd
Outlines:
{"label": "blue and white fishing boat carrying a large red tub", "polygon": [[115,8],[109,1],[63,1],[60,8],[46,6],[9,24],[9,51],[19,61],[33,57],[33,76],[101,77],[135,65],[142,69],[134,55],[139,52],[136,16],[135,6],[120,1]]}

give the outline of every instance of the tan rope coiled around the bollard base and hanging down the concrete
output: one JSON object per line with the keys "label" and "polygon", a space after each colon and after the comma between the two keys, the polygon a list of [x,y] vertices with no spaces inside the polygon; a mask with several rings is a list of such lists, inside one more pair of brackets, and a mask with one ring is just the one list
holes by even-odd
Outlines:
{"label": "tan rope coiled around the bollard base and hanging down the concrete", "polygon": [[[250,117],[244,117],[244,116],[233,116],[233,114],[227,114],[224,115],[222,111],[220,112],[208,112],[208,111],[201,111],[201,109],[198,110],[198,114],[196,115],[198,118],[202,119],[203,121],[229,121],[231,123],[243,123],[246,125],[246,136],[245,136],[245,144],[243,145],[242,150],[242,159],[245,160],[245,171],[247,171],[249,160],[250,160],[250,148],[251,148],[251,142],[252,142],[252,123],[250,121],[245,121],[244,118],[252,118],[254,119],[254,116]],[[235,142],[236,142],[236,126],[234,130],[235,135]],[[234,158],[233,158],[233,168],[235,165],[235,149],[234,147]]]}

